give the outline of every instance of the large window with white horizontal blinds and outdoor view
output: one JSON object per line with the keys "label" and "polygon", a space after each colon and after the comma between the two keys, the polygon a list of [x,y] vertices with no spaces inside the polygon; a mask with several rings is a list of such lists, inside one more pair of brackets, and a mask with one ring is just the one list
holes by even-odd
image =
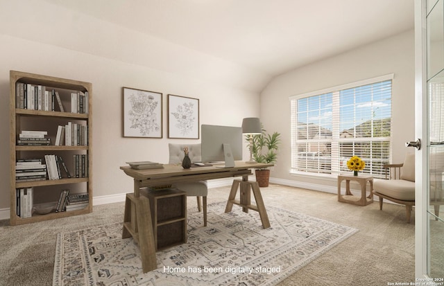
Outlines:
{"label": "large window with white horizontal blinds and outdoor view", "polygon": [[393,75],[291,97],[291,172],[338,174],[353,155],[384,177]]}

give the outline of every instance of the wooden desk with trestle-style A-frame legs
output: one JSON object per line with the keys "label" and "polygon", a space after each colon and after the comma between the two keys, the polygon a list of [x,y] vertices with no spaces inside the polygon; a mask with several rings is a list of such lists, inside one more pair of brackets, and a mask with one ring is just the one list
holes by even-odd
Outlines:
{"label": "wooden desk with trestle-style A-frame legs", "polygon": [[[248,181],[248,176],[253,175],[250,169],[271,167],[273,164],[236,162],[232,168],[219,168],[216,166],[196,167],[183,169],[182,166],[164,165],[163,169],[136,170],[129,166],[120,167],[126,175],[134,179],[134,193],[126,195],[125,213],[123,218],[122,238],[133,237],[139,244],[142,256],[142,269],[144,273],[157,269],[155,258],[155,239],[149,200],[140,195],[140,188],[164,186],[178,182],[202,181],[209,179],[221,179],[228,177],[242,177],[242,180],[234,180],[228,197],[225,213],[232,210],[233,204],[241,206],[244,212],[248,210],[259,212],[264,229],[270,227],[268,215],[259,185],[256,181]],[[234,197],[240,186],[240,199]],[[255,195],[256,206],[251,204],[250,190]]]}

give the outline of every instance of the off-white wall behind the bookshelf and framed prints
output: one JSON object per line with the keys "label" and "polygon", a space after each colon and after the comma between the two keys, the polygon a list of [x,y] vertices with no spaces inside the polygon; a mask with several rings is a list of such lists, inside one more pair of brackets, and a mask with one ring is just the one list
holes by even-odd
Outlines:
{"label": "off-white wall behind the bookshelf and framed prints", "polygon": [[[168,162],[168,143],[198,140],[167,138],[167,94],[198,98],[200,124],[241,126],[242,118],[259,116],[259,93],[202,80],[181,71],[160,71],[133,63],[73,51],[0,34],[0,212],[9,208],[9,71],[26,71],[92,82],[94,197],[128,193],[133,181],[119,170],[126,161]],[[146,48],[149,53],[149,47]],[[168,54],[164,55],[165,57]],[[197,59],[198,60],[198,59]],[[218,70],[219,64],[212,69]],[[233,84],[235,85],[235,84]],[[164,138],[122,137],[122,87],[164,93]],[[248,157],[248,150],[244,150]]]}

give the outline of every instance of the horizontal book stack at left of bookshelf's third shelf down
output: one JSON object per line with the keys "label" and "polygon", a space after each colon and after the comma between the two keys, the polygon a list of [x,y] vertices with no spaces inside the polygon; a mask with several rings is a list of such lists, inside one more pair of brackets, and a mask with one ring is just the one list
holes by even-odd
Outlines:
{"label": "horizontal book stack at left of bookshelf's third shelf down", "polygon": [[15,163],[15,181],[46,180],[46,164],[42,159],[19,159]]}

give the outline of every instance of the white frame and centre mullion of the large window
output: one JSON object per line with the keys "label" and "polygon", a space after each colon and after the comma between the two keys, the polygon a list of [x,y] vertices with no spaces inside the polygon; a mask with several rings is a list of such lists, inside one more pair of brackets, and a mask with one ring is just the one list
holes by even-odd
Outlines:
{"label": "white frame and centre mullion of the large window", "polygon": [[[350,82],[348,84],[341,84],[339,86],[336,87],[330,87],[327,89],[321,89],[318,91],[311,91],[309,93],[302,93],[299,94],[297,96],[290,96],[289,100],[291,102],[291,168],[290,168],[290,173],[291,174],[297,174],[297,175],[314,175],[314,176],[327,176],[327,177],[336,177],[337,172],[332,172],[332,174],[322,174],[322,173],[316,173],[316,172],[300,172],[298,170],[293,169],[293,160],[296,159],[296,157],[298,156],[297,154],[297,150],[296,150],[296,134],[294,134],[294,130],[296,129],[296,127],[293,126],[293,124],[296,122],[296,116],[297,116],[297,112],[295,110],[295,105],[293,104],[293,100],[298,100],[301,98],[307,98],[310,96],[318,96],[318,95],[322,95],[325,93],[339,93],[340,91],[344,90],[344,89],[352,89],[355,87],[361,87],[364,85],[368,85],[368,84],[374,84],[377,82],[384,82],[386,80],[392,80],[392,98],[393,98],[393,78],[394,78],[394,73],[390,73],[387,75],[382,75],[376,78],[369,78],[367,80],[361,80],[358,82]],[[393,110],[393,105],[391,106],[392,110]],[[333,107],[332,109],[339,109],[339,102],[334,101],[333,102]],[[391,112],[392,116],[393,116],[393,112]],[[339,120],[339,116],[336,117],[336,120]],[[393,120],[391,120],[393,122]],[[339,122],[334,122],[333,123],[333,127],[338,126],[339,127]],[[333,137],[331,139],[328,139],[328,141],[332,141],[332,164],[337,163],[339,164],[339,143],[341,142],[341,138],[339,138],[339,130],[338,129],[332,129],[332,134]],[[363,141],[368,141],[368,138],[355,138],[355,141],[359,141],[359,140],[363,140]],[[391,137],[390,138],[386,138],[386,137],[382,137],[379,139],[373,139],[373,141],[377,141],[377,140],[381,140],[381,141],[390,141],[390,145],[391,145]],[[300,141],[299,141],[300,142]],[[303,142],[302,142],[303,143]],[[390,155],[389,157],[391,158],[391,154],[392,154],[392,150],[390,148],[389,150]],[[331,166],[332,170],[339,170],[338,166]]]}

